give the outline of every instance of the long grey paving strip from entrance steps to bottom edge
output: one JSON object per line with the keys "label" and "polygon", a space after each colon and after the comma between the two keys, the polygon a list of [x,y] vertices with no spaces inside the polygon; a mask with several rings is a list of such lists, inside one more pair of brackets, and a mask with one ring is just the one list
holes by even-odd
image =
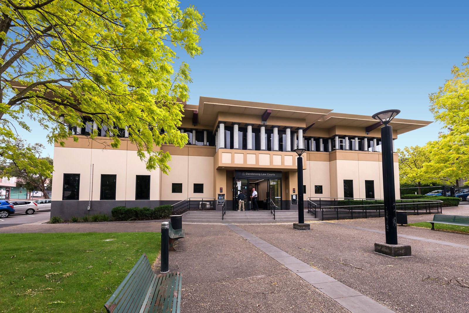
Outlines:
{"label": "long grey paving strip from entrance steps to bottom edge", "polygon": [[[291,224],[291,223],[289,223]],[[296,275],[303,278],[306,282],[317,288],[329,298],[332,298],[341,306],[352,313],[393,313],[386,306],[366,297],[360,292],[340,283],[336,279],[321,272],[317,268],[295,258],[285,251],[269,244],[268,242],[256,237],[249,231],[245,231],[234,224],[224,224],[229,229],[243,238],[249,239],[249,242],[257,246],[261,251],[284,265]]]}

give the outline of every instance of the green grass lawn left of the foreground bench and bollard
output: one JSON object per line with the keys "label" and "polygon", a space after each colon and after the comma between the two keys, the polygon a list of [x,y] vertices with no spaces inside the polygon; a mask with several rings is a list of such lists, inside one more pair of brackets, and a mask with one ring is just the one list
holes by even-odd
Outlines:
{"label": "green grass lawn left of the foreground bench and bollard", "polygon": [[28,313],[101,312],[143,253],[156,260],[161,242],[153,232],[1,237],[0,312]]}

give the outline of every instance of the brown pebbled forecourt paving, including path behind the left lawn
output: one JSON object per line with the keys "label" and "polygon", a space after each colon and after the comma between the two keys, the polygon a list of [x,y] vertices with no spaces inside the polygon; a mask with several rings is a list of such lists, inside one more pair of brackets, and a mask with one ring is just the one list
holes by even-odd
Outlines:
{"label": "brown pebbled forecourt paving, including path behind the left lawn", "polygon": [[[464,215],[457,210],[443,213]],[[431,219],[409,216],[409,223]],[[170,270],[182,272],[181,311],[468,312],[469,235],[398,226],[412,257],[390,258],[373,252],[383,227],[383,218],[317,222],[311,231],[183,224],[186,238],[169,254]],[[25,224],[0,232],[159,230],[159,222],[147,222]]]}

